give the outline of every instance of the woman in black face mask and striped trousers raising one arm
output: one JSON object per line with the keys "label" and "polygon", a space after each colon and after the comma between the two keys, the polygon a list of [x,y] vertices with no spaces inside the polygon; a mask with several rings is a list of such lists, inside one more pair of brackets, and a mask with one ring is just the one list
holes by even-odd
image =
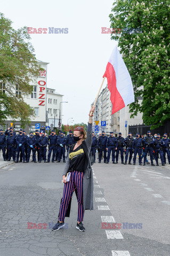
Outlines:
{"label": "woman in black face mask and striped trousers raising one arm", "polygon": [[[77,127],[74,130],[74,140],[76,144],[71,145],[67,157],[66,166],[63,172],[63,197],[60,205],[59,220],[52,228],[59,230],[64,224],[68,205],[72,193],[77,190],[78,218],[76,228],[85,231],[83,227],[83,217],[85,210],[93,210],[93,172],[90,163],[90,150],[92,145],[92,116],[95,107],[90,110],[87,134],[86,131]],[[66,175],[70,172],[70,180],[66,181]]]}

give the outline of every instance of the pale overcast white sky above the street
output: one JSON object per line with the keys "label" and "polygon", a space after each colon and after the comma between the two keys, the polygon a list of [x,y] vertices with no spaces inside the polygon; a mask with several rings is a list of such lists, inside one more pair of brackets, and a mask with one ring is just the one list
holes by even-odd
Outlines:
{"label": "pale overcast white sky above the street", "polygon": [[[63,124],[87,123],[91,103],[117,42],[101,27],[110,27],[115,0],[1,0],[1,12],[13,28],[68,28],[68,34],[30,34],[37,60],[47,65],[47,87],[63,94]],[[105,79],[103,87],[106,87]],[[70,119],[71,121],[71,119]],[[71,123],[70,123],[71,124]]]}

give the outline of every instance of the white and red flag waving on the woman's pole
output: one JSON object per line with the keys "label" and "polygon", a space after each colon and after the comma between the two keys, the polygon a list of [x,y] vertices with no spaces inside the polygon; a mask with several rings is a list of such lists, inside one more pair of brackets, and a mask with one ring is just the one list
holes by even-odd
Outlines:
{"label": "white and red flag waving on the woman's pole", "polygon": [[131,76],[128,73],[117,46],[115,46],[111,53],[103,77],[107,77],[108,89],[111,93],[110,100],[113,105],[111,114],[134,102]]}

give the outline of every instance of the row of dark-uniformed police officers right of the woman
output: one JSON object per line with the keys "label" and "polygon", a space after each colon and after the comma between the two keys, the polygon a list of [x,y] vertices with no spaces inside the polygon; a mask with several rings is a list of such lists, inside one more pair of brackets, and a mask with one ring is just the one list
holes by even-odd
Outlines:
{"label": "row of dark-uniformed police officers right of the woman", "polygon": [[[141,136],[142,137],[142,136]],[[169,145],[170,139],[167,138],[167,133],[164,133],[163,139],[160,139],[160,134],[155,134],[154,137],[151,135],[150,131],[147,132],[147,136],[141,138],[139,133],[136,133],[136,138],[132,137],[132,133],[128,133],[128,137],[123,138],[122,133],[119,132],[118,137],[114,137],[114,133],[110,132],[110,136],[107,137],[105,132],[102,131],[102,135],[97,139],[93,133],[92,138],[92,148],[91,152],[95,160],[95,152],[98,149],[99,152],[99,163],[101,163],[102,154],[104,158],[104,163],[108,164],[110,160],[110,154],[112,153],[112,163],[118,163],[118,157],[120,153],[120,158],[122,164],[131,164],[132,155],[133,165],[136,164],[136,156],[139,155],[139,165],[145,165],[147,161],[147,154],[150,154],[151,165],[153,164],[153,158],[158,166],[158,158],[160,156],[161,164],[164,166],[166,164],[166,154],[168,163],[170,164],[170,152]],[[125,162],[124,162],[124,152],[125,152]],[[108,154],[107,154],[108,153]],[[116,153],[116,156],[115,156]],[[116,162],[115,162],[116,158]]]}

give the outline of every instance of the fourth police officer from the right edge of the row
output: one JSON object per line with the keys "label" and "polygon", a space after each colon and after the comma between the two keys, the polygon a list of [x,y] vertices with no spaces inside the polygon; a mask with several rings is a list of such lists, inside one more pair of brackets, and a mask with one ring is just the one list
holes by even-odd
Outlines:
{"label": "fourth police officer from the right edge of the row", "polygon": [[142,146],[143,146],[143,140],[140,138],[140,134],[136,133],[136,139],[134,139],[132,143],[132,150],[134,150],[134,157],[133,157],[133,165],[136,164],[136,155],[138,153],[139,155],[139,165],[142,165]]}

